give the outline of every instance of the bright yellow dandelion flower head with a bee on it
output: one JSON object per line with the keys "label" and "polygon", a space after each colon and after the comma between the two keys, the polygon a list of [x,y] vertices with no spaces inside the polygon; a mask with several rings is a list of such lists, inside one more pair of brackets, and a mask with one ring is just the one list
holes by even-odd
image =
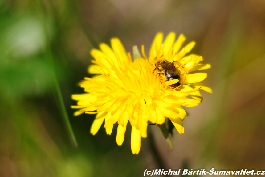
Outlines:
{"label": "bright yellow dandelion flower head with a bee on it", "polygon": [[[79,109],[75,116],[84,112],[97,114],[90,132],[95,135],[105,120],[104,128],[107,134],[112,133],[113,124],[118,123],[116,142],[122,145],[127,123],[132,126],[131,149],[138,154],[141,147],[141,137],[147,137],[148,122],[163,124],[168,117],[179,133],[184,133],[182,120],[187,115],[182,106],[192,107],[202,101],[198,91],[211,89],[201,82],[207,77],[206,73],[187,74],[195,70],[210,68],[209,64],[200,64],[201,56],[186,53],[194,46],[189,43],[179,51],[185,37],[181,34],[175,42],[175,33],[170,33],[164,43],[163,34],[158,33],[150,49],[149,59],[132,61],[118,38],[111,39],[111,47],[100,44],[100,50],[92,49],[91,55],[95,59],[88,72],[97,74],[93,78],[85,78],[80,86],[85,94],[72,95],[77,101]],[[143,49],[143,47],[142,47]],[[161,57],[162,56],[162,57]],[[166,81],[165,77],[155,70],[155,63],[159,58],[169,62],[178,61],[180,79]],[[181,80],[180,90],[170,87]],[[185,85],[189,84],[189,86]],[[181,106],[182,105],[182,106]]]}

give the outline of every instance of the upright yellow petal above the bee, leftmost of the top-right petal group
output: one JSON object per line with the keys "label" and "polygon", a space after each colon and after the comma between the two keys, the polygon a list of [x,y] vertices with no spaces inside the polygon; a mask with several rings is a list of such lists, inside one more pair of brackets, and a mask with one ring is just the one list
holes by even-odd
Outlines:
{"label": "upright yellow petal above the bee, leftmost of the top-right petal group", "polygon": [[157,57],[157,54],[161,48],[162,41],[163,41],[163,33],[159,32],[155,36],[150,48],[150,53],[149,53],[151,59],[150,63],[153,63],[155,58]]}

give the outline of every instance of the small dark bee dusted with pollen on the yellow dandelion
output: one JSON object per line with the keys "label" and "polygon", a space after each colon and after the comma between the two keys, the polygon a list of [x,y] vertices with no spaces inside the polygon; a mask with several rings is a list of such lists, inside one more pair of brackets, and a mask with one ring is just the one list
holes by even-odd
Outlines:
{"label": "small dark bee dusted with pollen on the yellow dandelion", "polygon": [[181,89],[181,83],[182,83],[181,78],[180,78],[181,71],[175,67],[174,65],[175,63],[179,66],[179,69],[185,71],[187,74],[189,73],[189,71],[185,68],[185,66],[182,65],[180,62],[173,61],[172,63],[170,63],[169,61],[165,59],[159,59],[155,63],[156,68],[153,70],[153,73],[155,72],[155,70],[158,70],[159,76],[160,74],[164,75],[166,81],[178,79],[179,81],[177,83],[169,85],[169,86],[170,88],[173,88],[179,91]]}

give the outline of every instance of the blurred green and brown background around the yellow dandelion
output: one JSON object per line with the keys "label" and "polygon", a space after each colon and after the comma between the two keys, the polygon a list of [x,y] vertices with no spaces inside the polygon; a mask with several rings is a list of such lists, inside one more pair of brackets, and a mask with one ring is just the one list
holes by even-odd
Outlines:
{"label": "blurred green and brown background around the yellow dandelion", "polygon": [[[264,169],[264,0],[0,0],[0,176],[142,176],[160,168],[148,139],[130,149],[130,128],[89,133],[93,116],[73,117],[71,94],[90,77],[89,52],[117,36],[127,51],[161,31],[196,41],[212,69],[213,94],[186,108],[173,150],[149,126],[167,169]],[[67,124],[67,115],[72,130]],[[73,133],[75,134],[75,144]],[[152,144],[151,144],[152,145]]]}

